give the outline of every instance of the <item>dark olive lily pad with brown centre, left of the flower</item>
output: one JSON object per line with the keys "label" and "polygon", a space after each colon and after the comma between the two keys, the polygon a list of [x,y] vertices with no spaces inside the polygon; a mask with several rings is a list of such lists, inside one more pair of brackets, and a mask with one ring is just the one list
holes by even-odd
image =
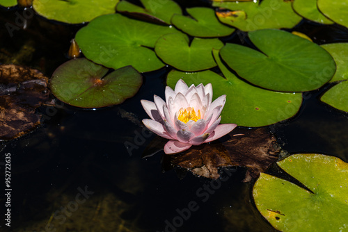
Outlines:
{"label": "dark olive lily pad with brown centre, left of the flower", "polygon": [[69,105],[100,108],[133,97],[143,83],[141,74],[131,66],[106,75],[108,71],[86,58],[70,60],[54,71],[50,87],[56,98]]}

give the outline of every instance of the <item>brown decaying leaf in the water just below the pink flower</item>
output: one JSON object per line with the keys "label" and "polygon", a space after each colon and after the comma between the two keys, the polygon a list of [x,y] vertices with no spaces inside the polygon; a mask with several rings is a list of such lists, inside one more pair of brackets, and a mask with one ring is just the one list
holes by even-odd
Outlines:
{"label": "brown decaying leaf in the water just below the pink flower", "polygon": [[229,135],[231,138],[226,142],[193,146],[167,158],[173,165],[210,179],[219,178],[219,167],[246,167],[244,182],[258,177],[278,159],[280,146],[266,128],[237,128]]}

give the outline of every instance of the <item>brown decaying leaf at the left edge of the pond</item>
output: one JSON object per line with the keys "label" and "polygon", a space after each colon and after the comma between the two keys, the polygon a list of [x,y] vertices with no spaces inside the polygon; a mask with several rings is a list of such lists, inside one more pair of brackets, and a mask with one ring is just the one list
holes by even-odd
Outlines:
{"label": "brown decaying leaf at the left edge of the pond", "polygon": [[48,78],[35,69],[0,65],[0,140],[11,140],[40,124],[35,109],[49,98]]}

